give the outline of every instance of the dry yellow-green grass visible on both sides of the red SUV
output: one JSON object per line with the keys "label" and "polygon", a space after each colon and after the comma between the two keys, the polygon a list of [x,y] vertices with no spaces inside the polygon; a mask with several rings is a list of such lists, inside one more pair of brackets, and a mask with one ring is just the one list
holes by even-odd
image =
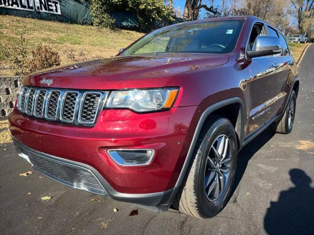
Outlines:
{"label": "dry yellow-green grass visible on both sides of the red SUV", "polygon": [[[83,60],[110,57],[122,47],[127,47],[143,34],[130,30],[111,31],[79,24],[0,15],[0,67],[8,65],[1,52],[6,47],[19,44],[19,34],[26,38],[27,49],[44,43],[59,52],[61,65]],[[289,43],[297,61],[306,44]],[[13,75],[8,69],[1,75]]]}

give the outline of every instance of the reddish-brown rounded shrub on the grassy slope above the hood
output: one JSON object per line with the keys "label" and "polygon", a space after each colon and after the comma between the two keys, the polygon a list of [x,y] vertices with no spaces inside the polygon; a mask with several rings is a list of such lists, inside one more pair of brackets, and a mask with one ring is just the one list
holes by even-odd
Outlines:
{"label": "reddish-brown rounded shrub on the grassy slope above the hood", "polygon": [[60,65],[60,56],[57,51],[46,45],[39,45],[31,51],[29,71],[34,72]]}

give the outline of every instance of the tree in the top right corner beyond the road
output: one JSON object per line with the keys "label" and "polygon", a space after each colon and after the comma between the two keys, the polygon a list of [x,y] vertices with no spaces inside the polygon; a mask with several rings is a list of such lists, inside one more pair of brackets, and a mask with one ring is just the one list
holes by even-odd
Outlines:
{"label": "tree in the top right corner beyond the road", "polygon": [[302,34],[310,34],[314,17],[314,0],[291,0],[292,9]]}

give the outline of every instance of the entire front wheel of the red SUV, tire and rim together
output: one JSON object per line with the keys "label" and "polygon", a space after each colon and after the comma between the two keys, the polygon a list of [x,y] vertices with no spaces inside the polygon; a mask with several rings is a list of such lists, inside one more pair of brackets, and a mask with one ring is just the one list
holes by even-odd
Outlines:
{"label": "entire front wheel of the red SUV, tire and rim together", "polygon": [[237,159],[237,139],[230,120],[212,116],[204,124],[185,181],[173,201],[175,208],[210,218],[226,205]]}

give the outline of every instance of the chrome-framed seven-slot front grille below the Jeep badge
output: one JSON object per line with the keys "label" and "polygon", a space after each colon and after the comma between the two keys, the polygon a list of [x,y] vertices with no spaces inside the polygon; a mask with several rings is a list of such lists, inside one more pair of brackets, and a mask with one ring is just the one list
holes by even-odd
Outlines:
{"label": "chrome-framed seven-slot front grille below the Jeep badge", "polygon": [[18,109],[28,116],[73,124],[95,124],[106,98],[105,92],[23,86]]}

